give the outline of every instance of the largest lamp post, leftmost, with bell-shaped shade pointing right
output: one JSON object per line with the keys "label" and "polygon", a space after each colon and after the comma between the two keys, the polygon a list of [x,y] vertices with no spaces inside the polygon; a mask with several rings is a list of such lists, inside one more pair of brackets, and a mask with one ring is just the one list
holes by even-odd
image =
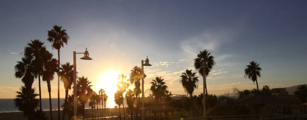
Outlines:
{"label": "largest lamp post, leftmost, with bell-shaped shade pointing right", "polygon": [[74,119],[77,119],[77,72],[76,72],[76,54],[84,54],[84,57],[80,58],[82,60],[92,60],[92,58],[89,57],[89,53],[87,51],[87,48],[85,48],[85,52],[84,53],[76,53],[76,51],[74,51]]}

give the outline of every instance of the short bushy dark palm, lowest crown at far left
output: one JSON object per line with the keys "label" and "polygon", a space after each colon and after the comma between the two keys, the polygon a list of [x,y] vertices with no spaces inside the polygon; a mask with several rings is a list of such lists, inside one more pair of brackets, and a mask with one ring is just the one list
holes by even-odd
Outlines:
{"label": "short bushy dark palm, lowest crown at far left", "polygon": [[14,99],[16,107],[24,112],[24,116],[28,116],[28,119],[33,119],[35,114],[35,108],[39,105],[39,100],[35,97],[38,94],[35,93],[34,88],[28,88],[23,86],[20,91],[17,91],[16,98]]}

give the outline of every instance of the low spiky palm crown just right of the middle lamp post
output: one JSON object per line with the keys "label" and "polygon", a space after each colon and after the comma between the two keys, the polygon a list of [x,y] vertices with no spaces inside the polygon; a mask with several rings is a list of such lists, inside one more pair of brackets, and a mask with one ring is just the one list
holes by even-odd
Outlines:
{"label": "low spiky palm crown just right of the middle lamp post", "polygon": [[161,102],[161,98],[163,96],[166,96],[167,88],[168,86],[166,83],[163,81],[161,77],[156,77],[156,79],[153,79],[150,86],[150,90],[152,91],[152,95],[155,96],[155,100],[157,103],[159,101]]}

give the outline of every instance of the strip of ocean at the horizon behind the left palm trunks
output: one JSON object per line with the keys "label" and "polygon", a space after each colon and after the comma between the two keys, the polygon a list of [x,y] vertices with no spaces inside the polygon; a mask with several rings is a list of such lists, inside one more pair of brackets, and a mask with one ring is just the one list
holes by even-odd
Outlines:
{"label": "strip of ocean at the horizon behind the left palm trunks", "polygon": [[[60,106],[64,103],[65,98],[60,98]],[[52,103],[52,109],[58,109],[58,99],[57,98],[51,98]],[[101,102],[100,102],[101,103]],[[113,102],[106,102],[106,107],[114,107]],[[126,101],[124,100],[124,105],[126,106]],[[100,104],[101,106],[101,104]],[[37,107],[40,108],[39,106]],[[89,108],[88,102],[85,104],[85,108]],[[49,98],[42,98],[42,109],[43,110],[49,110]],[[62,107],[61,107],[62,109]],[[14,99],[0,99],[0,112],[14,112],[19,111],[18,108],[15,106]]]}

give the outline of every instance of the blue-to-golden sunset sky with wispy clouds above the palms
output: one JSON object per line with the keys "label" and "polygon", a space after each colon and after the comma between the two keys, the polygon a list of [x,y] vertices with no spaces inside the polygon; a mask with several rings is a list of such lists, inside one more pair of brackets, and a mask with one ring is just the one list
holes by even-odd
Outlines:
{"label": "blue-to-golden sunset sky with wispy clouds above the palms", "polygon": [[[185,69],[194,72],[194,59],[208,50],[216,65],[207,77],[208,93],[234,88],[253,89],[244,68],[256,61],[262,68],[259,87],[288,87],[306,83],[306,1],[3,1],[0,0],[0,98],[14,98],[23,85],[14,66],[30,40],[47,41],[47,31],[62,26],[70,37],[61,48],[61,64],[73,63],[73,51],[88,49],[91,61],[77,55],[78,76],[93,88],[111,89],[116,74],[129,75],[148,56],[145,89],[157,76],[173,94],[186,94],[180,84]],[[108,79],[108,74],[115,77]],[[197,74],[199,76],[199,74]],[[199,76],[195,94],[202,93]],[[64,97],[63,83],[60,84]],[[38,89],[38,80],[33,87]],[[112,86],[115,87],[115,86]],[[51,82],[57,97],[57,76]],[[149,95],[146,92],[145,95]],[[42,98],[48,98],[42,82]]]}

